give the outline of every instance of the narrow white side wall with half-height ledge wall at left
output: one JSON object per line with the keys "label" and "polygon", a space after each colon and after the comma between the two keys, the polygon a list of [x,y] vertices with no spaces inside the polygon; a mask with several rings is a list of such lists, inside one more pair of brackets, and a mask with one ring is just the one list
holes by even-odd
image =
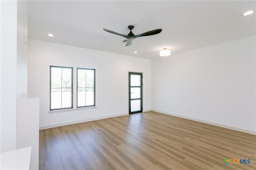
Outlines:
{"label": "narrow white side wall with half-height ledge wall at left", "polygon": [[28,83],[28,6],[17,2],[17,113],[16,149],[32,146],[30,167],[38,169],[39,161],[39,99],[27,94]]}

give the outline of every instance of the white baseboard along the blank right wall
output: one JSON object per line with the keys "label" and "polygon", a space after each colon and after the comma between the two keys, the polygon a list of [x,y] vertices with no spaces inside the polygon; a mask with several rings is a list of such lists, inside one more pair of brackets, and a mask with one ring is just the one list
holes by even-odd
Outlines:
{"label": "white baseboard along the blank right wall", "polygon": [[245,133],[250,133],[250,134],[256,135],[256,132],[254,132],[254,131],[252,131],[252,130],[247,130],[247,129],[243,129],[243,128],[236,128],[236,127],[231,127],[231,126],[228,126],[228,125],[222,125],[222,124],[218,124],[218,123],[203,121],[203,120],[200,120],[200,119],[194,119],[194,118],[191,118],[191,117],[185,117],[185,116],[175,115],[175,114],[166,113],[166,112],[157,111],[157,110],[151,110],[151,111],[154,111],[154,112],[157,112],[157,113],[162,113],[162,114],[165,114],[165,115],[171,115],[171,116],[174,116],[174,117],[180,117],[180,118],[188,119],[188,120],[192,120],[192,121],[197,121],[197,122],[201,122],[201,123],[206,123],[206,124],[214,125],[214,126],[217,126],[217,127],[228,128],[228,129],[237,130],[237,131],[240,131],[240,132],[245,132]]}

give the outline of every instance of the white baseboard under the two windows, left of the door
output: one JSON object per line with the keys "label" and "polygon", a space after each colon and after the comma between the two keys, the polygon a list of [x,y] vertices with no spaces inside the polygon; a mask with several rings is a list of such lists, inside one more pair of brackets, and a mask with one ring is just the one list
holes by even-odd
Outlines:
{"label": "white baseboard under the two windows, left of the door", "polygon": [[107,119],[107,118],[110,118],[110,117],[118,117],[118,116],[124,116],[124,115],[128,115],[128,113],[123,113],[123,114],[118,114],[118,115],[110,115],[110,116],[104,116],[104,117],[96,117],[96,118],[92,118],[92,119],[85,119],[85,120],[80,120],[80,121],[66,122],[66,123],[60,123],[60,124],[56,124],[56,125],[48,125],[48,126],[39,127],[39,130],[43,130],[43,129],[46,129],[46,128],[61,127],[61,126],[65,126],[65,125],[72,125],[72,124],[76,124],[76,123],[84,123],[84,122],[89,122],[89,121],[96,121],[96,120],[100,120],[100,119]]}

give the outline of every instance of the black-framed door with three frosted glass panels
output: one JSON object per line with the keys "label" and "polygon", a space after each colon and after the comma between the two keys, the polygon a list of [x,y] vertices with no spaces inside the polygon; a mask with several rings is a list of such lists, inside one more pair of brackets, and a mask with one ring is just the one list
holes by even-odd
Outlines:
{"label": "black-framed door with three frosted glass panels", "polygon": [[142,73],[129,72],[129,114],[142,112]]}

